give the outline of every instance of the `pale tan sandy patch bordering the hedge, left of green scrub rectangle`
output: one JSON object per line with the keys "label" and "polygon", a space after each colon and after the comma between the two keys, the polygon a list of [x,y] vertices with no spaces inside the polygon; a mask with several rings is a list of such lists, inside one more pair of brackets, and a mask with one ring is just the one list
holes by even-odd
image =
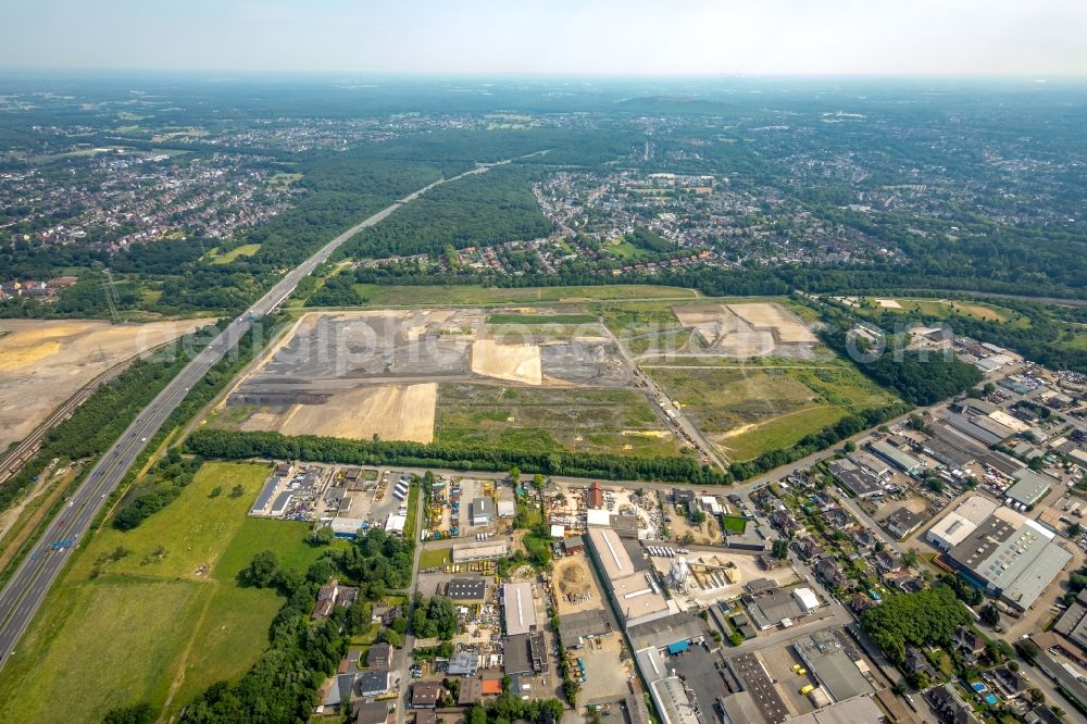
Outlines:
{"label": "pale tan sandy patch bordering the hedge, left of green scrub rectangle", "polygon": [[383,440],[430,442],[437,401],[437,383],[367,385],[339,392],[324,404],[295,404],[282,417],[257,413],[245,427],[252,429],[260,425],[255,428],[275,429],[284,435],[355,440],[377,435]]}

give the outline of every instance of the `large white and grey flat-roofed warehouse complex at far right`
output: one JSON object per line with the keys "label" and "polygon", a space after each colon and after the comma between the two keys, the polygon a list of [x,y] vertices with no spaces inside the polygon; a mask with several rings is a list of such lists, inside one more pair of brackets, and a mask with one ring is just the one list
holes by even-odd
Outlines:
{"label": "large white and grey flat-roofed warehouse complex at far right", "polygon": [[925,537],[946,563],[1024,611],[1072,560],[1052,532],[983,496],[966,499]]}

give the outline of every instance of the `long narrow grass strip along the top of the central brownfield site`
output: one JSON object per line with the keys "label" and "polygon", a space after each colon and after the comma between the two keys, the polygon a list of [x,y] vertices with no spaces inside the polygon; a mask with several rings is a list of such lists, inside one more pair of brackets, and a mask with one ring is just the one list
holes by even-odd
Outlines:
{"label": "long narrow grass strip along the top of the central brownfield site", "polygon": [[658,287],[640,284],[615,284],[599,287],[500,287],[460,286],[412,287],[357,284],[359,296],[367,307],[412,305],[479,305],[516,304],[536,302],[583,302],[612,299],[660,299],[698,297],[692,289]]}

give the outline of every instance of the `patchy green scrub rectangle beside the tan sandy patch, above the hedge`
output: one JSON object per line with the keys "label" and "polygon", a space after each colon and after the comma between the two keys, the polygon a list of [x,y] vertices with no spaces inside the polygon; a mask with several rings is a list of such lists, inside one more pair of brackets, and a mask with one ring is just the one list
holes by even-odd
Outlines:
{"label": "patchy green scrub rectangle beside the tan sandy patch, above the hedge", "polygon": [[443,384],[435,439],[538,451],[679,452],[648,401],[630,390]]}

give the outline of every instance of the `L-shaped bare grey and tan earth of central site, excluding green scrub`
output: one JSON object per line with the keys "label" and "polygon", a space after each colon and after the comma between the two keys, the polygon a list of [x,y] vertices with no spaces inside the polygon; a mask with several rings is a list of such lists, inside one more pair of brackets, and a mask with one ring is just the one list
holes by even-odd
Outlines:
{"label": "L-shaped bare grey and tan earth of central site, excluding green scrub", "polygon": [[633,385],[604,330],[499,329],[482,310],[360,310],[299,317],[220,407],[215,424],[353,439],[435,438],[439,383]]}

